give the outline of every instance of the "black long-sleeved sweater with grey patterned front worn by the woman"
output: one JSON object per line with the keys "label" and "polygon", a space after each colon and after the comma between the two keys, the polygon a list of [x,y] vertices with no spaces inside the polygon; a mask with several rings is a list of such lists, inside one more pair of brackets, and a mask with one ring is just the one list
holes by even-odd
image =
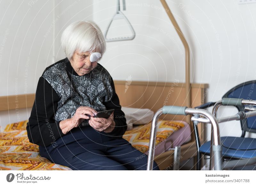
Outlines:
{"label": "black long-sleeved sweater with grey patterned front worn by the woman", "polygon": [[[27,124],[29,142],[47,147],[64,136],[60,121],[73,117],[79,106],[88,106],[98,112],[115,109],[116,126],[106,134],[123,136],[127,124],[108,71],[98,64],[90,73],[79,76],[65,58],[48,66],[39,78]],[[84,120],[79,127],[88,125],[88,120]]]}

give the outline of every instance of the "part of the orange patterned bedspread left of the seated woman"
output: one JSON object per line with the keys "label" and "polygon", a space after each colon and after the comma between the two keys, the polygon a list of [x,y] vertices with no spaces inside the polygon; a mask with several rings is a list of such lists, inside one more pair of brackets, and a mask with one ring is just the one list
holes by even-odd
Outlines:
{"label": "part of the orange patterned bedspread left of the seated woman", "polygon": [[0,170],[71,170],[39,155],[27,136],[28,120],[11,123],[0,133]]}

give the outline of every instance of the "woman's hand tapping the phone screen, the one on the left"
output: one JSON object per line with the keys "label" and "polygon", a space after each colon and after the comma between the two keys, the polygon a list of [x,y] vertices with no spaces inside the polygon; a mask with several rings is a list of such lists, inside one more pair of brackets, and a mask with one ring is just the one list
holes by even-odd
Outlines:
{"label": "woman's hand tapping the phone screen, the one on the left", "polygon": [[75,115],[67,120],[60,121],[60,128],[63,134],[67,134],[72,128],[78,127],[85,119],[90,119],[90,116],[95,116],[98,112],[87,106],[80,106],[76,109]]}

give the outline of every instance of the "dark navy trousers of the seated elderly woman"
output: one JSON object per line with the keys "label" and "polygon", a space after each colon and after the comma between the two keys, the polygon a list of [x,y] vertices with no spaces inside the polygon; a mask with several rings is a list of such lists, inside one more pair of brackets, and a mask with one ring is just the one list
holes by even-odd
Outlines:
{"label": "dark navy trousers of the seated elderly woman", "polygon": [[[73,170],[146,170],[148,156],[121,137],[108,136],[91,126],[73,128],[40,155]],[[153,170],[159,170],[156,162]]]}

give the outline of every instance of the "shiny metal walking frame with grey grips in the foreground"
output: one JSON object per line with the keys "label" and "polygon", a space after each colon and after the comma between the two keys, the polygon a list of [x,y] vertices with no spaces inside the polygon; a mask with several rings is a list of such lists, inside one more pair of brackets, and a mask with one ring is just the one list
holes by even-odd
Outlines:
{"label": "shiny metal walking frame with grey grips in the foreground", "polygon": [[[244,112],[244,111],[238,112],[236,115],[217,119],[217,110],[220,107],[220,105],[248,105],[247,107],[245,107],[245,110],[250,112]],[[155,113],[152,120],[152,124],[151,124],[147,170],[153,169],[157,121],[162,114],[174,114],[174,115],[190,114],[190,115],[193,115],[191,117],[191,120],[195,124],[198,124],[199,122],[211,123],[212,129],[211,129],[210,170],[223,170],[223,169],[232,168],[232,167],[255,164],[256,157],[251,159],[239,159],[239,160],[231,160],[228,162],[223,162],[222,146],[220,143],[220,133],[219,133],[219,127],[218,127],[218,124],[221,122],[232,121],[232,120],[243,120],[248,117],[256,116],[256,108],[253,108],[253,105],[256,106],[255,100],[244,100],[244,99],[238,99],[238,98],[222,98],[222,100],[218,101],[214,105],[212,113],[204,109],[188,108],[188,107],[180,107],[180,106],[164,106],[163,108],[160,108]]]}

